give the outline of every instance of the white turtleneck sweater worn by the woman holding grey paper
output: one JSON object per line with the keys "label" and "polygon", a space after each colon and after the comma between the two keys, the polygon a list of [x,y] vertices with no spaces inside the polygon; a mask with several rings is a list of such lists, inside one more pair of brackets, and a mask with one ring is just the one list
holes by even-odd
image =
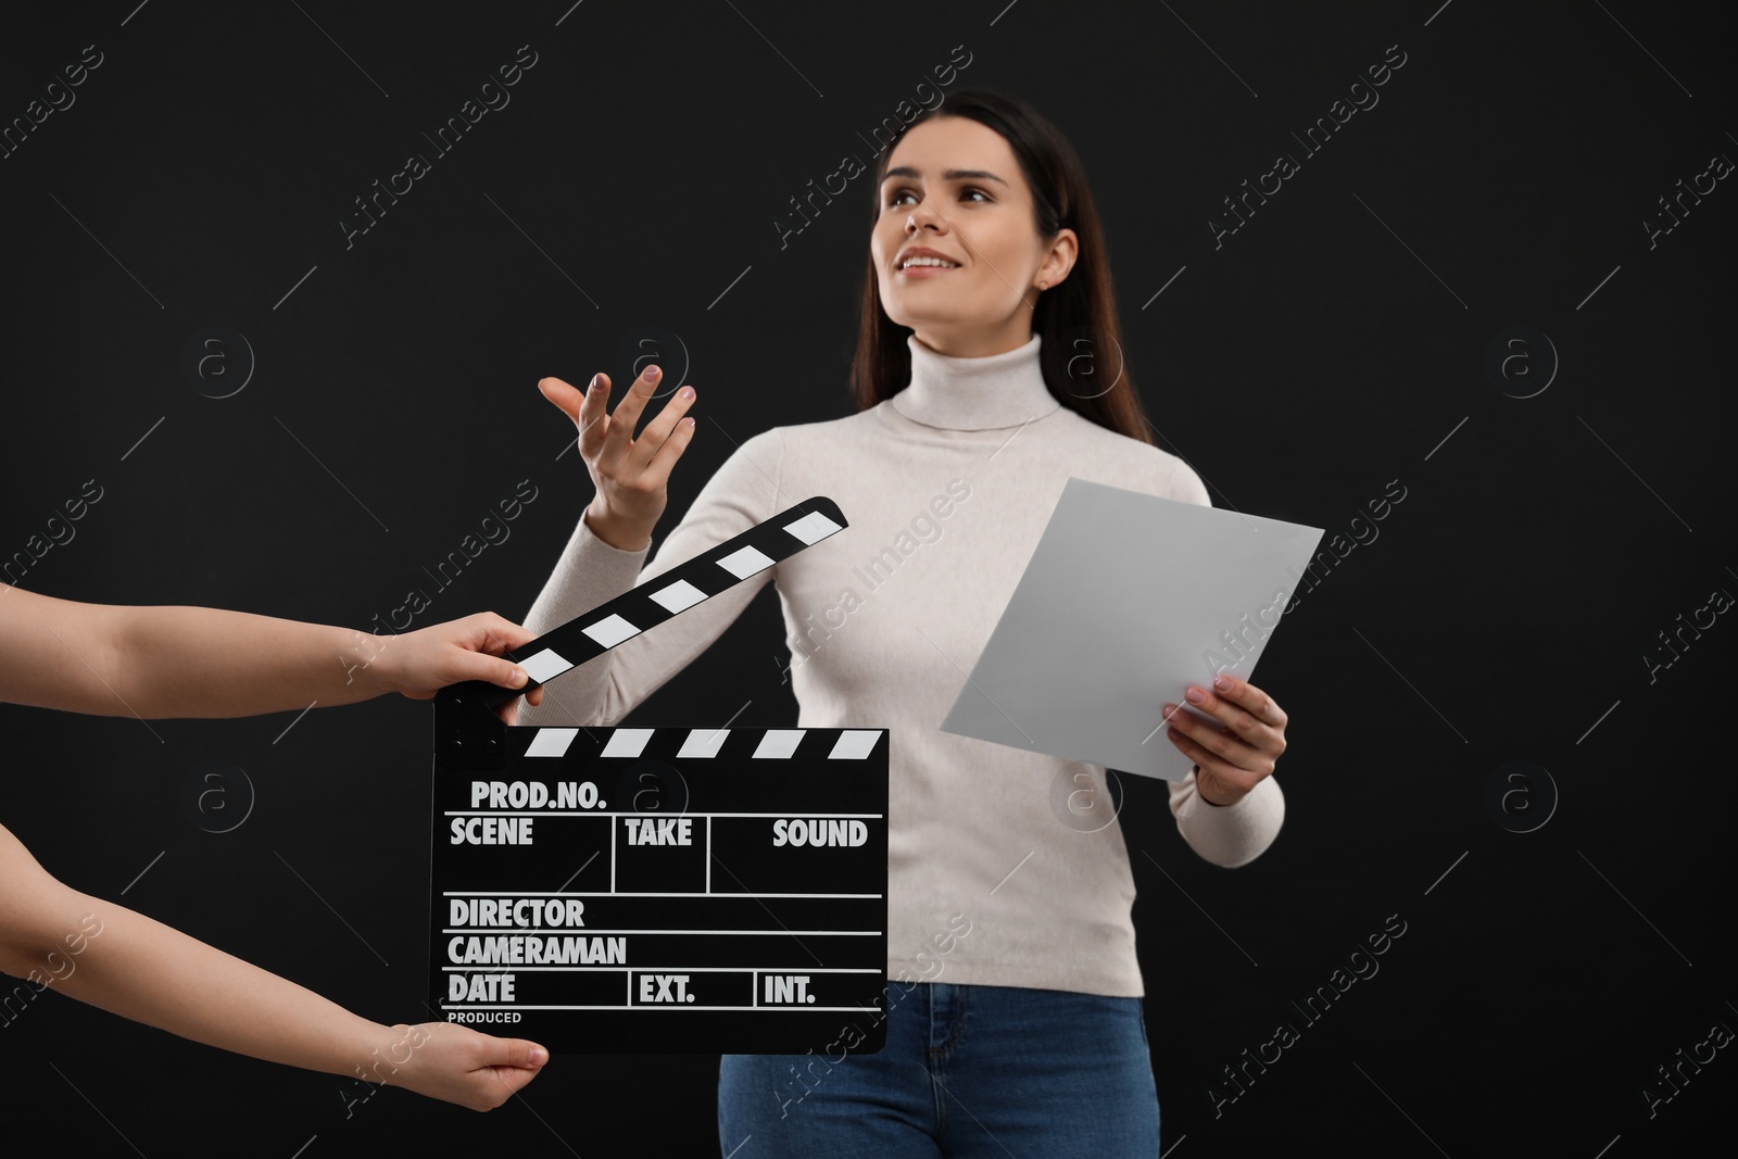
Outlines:
{"label": "white turtleneck sweater worn by the woman holding grey paper", "polygon": [[[1069,792],[1086,773],[1109,810],[1102,766],[939,728],[1071,474],[1210,502],[1178,457],[1060,407],[1045,386],[1039,341],[949,358],[907,337],[907,387],[846,419],[742,443],[643,570],[647,551],[612,547],[580,518],[525,617],[534,632],[810,495],[836,500],[850,527],[554,679],[542,707],[520,707],[520,721],[617,723],[772,582],[798,726],[890,730],[888,975],[1140,996],[1123,829],[1138,824],[1140,844],[1156,841],[1152,818],[1083,832],[1095,825],[1069,824]],[[1091,598],[1091,577],[1081,580],[1081,598]],[[1156,688],[1154,702],[1182,692]],[[1220,865],[1258,857],[1284,818],[1272,777],[1215,806],[1191,773],[1171,785],[1170,808],[1184,839]],[[965,937],[956,914],[972,923]]]}

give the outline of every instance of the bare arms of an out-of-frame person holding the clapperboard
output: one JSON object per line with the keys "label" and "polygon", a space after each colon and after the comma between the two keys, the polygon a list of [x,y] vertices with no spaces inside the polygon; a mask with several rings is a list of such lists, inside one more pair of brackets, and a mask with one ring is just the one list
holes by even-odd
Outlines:
{"label": "bare arms of an out-of-frame person holding the clapperboard", "polygon": [[[0,587],[0,700],[139,719],[306,711],[382,692],[428,700],[466,679],[523,688],[525,669],[501,653],[530,639],[490,612],[382,639],[243,612],[92,605]],[[527,704],[541,693],[534,690]],[[516,705],[501,709],[509,725]],[[0,1029],[52,985],[196,1043],[403,1086],[471,1110],[499,1107],[549,1060],[525,1039],[445,1022],[388,1027],[353,1015],[289,978],[63,884],[3,825],[0,973],[19,978],[0,980]]]}

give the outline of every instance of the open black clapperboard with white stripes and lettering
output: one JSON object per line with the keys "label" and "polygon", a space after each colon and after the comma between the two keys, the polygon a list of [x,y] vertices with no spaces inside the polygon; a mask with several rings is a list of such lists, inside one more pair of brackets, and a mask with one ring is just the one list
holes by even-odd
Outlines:
{"label": "open black clapperboard with white stripes and lettering", "polygon": [[[509,655],[554,679],[845,527],[808,499]],[[509,728],[494,709],[521,692],[434,700],[443,1020],[553,1051],[801,1053],[881,1006],[886,730]]]}

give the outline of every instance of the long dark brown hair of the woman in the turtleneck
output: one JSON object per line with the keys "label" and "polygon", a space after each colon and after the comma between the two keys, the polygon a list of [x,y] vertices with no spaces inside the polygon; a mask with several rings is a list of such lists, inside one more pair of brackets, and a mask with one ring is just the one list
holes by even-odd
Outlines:
{"label": "long dark brown hair of the woman in the turtleneck", "polygon": [[[1069,276],[1039,294],[1032,309],[1032,330],[1043,339],[1039,361],[1050,393],[1081,417],[1152,445],[1140,394],[1124,365],[1098,209],[1074,146],[1031,106],[989,89],[961,89],[933,109],[919,113],[900,137],[932,116],[966,116],[1001,134],[1020,160],[1020,172],[1032,191],[1039,236],[1053,238],[1062,229],[1072,229],[1079,238]],[[881,181],[900,137],[888,142],[876,163],[871,229],[881,215]],[[905,346],[909,334],[909,327],[899,325],[881,309],[874,259],[866,257],[857,354],[850,377],[859,410],[892,398],[911,382],[911,349]]]}

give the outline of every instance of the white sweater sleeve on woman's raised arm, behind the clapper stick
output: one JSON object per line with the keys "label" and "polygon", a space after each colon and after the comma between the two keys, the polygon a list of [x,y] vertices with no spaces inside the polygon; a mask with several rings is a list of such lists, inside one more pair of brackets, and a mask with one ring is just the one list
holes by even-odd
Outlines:
{"label": "white sweater sleeve on woman's raised arm, behind the clapper stick", "polygon": [[[547,632],[805,499],[780,492],[782,471],[784,440],[777,427],[742,443],[706,481],[643,570],[648,549],[612,547],[593,535],[580,516],[525,627]],[[546,686],[539,707],[520,705],[520,723],[614,725],[706,652],[773,572],[777,565],[558,676]]]}

